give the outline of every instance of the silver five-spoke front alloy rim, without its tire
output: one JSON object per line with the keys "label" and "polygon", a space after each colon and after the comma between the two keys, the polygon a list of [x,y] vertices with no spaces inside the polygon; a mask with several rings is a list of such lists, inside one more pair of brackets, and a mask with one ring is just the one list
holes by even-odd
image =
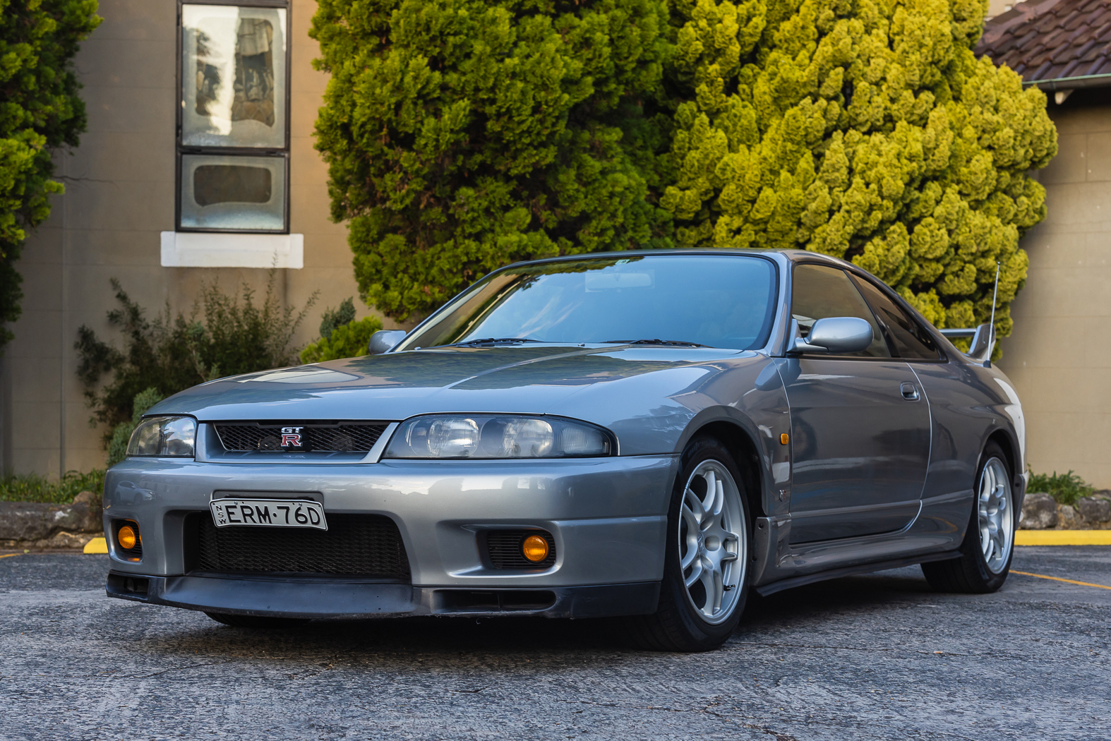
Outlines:
{"label": "silver five-spoke front alloy rim, without its tire", "polygon": [[728,620],[748,564],[748,528],[729,470],[702,461],[687,480],[679,518],[679,567],[687,599],[708,623]]}

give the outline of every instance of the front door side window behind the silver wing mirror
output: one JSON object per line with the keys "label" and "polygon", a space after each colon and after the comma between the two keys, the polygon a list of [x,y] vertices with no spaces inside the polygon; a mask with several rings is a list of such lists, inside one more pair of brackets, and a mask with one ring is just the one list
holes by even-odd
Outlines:
{"label": "front door side window behind the silver wing mirror", "polygon": [[802,337],[827,317],[857,317],[872,326],[872,344],[861,352],[847,353],[854,358],[890,358],[891,351],[875,317],[860,291],[843,270],[827,266],[795,266],[791,281],[791,317],[799,321]]}

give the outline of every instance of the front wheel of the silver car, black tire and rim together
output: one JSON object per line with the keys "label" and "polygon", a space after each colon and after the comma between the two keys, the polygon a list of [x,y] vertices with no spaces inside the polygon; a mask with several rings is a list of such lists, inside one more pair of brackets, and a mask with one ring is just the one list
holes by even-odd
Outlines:
{"label": "front wheel of the silver car, black tire and rim together", "polygon": [[[713,438],[692,440],[681,461],[668,511],[660,601],[654,613],[625,619],[632,641],[653,651],[718,648],[737,628],[749,592],[752,520],[737,463]],[[711,485],[720,489],[712,499]]]}

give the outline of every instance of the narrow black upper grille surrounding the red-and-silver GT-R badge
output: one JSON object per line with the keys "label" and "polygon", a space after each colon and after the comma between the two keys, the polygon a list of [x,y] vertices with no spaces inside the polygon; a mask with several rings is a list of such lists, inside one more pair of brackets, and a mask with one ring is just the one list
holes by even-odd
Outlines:
{"label": "narrow black upper grille surrounding the red-and-silver GT-R badge", "polygon": [[[370,452],[382,437],[384,422],[230,422],[216,433],[228,451]],[[300,445],[282,445],[282,429],[296,429]],[[286,440],[289,440],[287,437]]]}

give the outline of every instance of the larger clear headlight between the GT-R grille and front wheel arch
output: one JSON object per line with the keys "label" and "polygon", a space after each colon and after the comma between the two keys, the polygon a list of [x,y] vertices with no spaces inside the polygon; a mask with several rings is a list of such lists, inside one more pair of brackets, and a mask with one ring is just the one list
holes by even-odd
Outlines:
{"label": "larger clear headlight between the GT-R grille and front wheel arch", "polygon": [[604,430],[551,417],[436,414],[398,428],[386,458],[597,458],[613,454]]}

